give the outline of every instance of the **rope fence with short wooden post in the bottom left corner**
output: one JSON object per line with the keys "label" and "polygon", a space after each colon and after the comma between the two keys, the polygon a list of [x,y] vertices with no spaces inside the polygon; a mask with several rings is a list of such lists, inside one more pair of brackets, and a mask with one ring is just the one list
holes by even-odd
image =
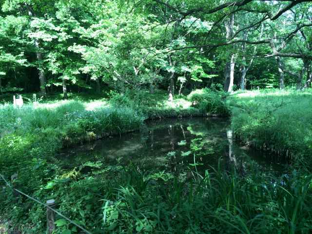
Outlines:
{"label": "rope fence with short wooden post in the bottom left corner", "polygon": [[[40,205],[43,205],[44,207],[47,208],[47,234],[52,234],[53,231],[55,230],[55,223],[54,223],[54,213],[58,214],[59,216],[61,216],[62,218],[66,219],[68,222],[70,222],[71,224],[75,225],[76,227],[78,227],[79,229],[81,229],[82,231],[84,231],[86,234],[92,234],[89,231],[87,231],[86,229],[84,229],[83,227],[81,227],[79,224],[77,224],[76,222],[74,222],[73,220],[69,219],[68,217],[66,217],[65,215],[62,215],[61,213],[59,213],[59,211],[53,209],[52,207],[55,205],[55,200],[51,199],[51,200],[47,200],[46,203],[43,203],[41,201],[39,201],[38,199],[31,197],[30,195],[27,195],[23,192],[21,192],[20,190],[14,188],[5,178],[3,175],[1,175],[1,178],[3,179],[3,181],[6,183],[7,186],[9,186],[10,188],[13,189],[13,191],[18,192],[21,195],[26,196],[27,198],[39,203]],[[15,178],[16,179],[16,178]]]}

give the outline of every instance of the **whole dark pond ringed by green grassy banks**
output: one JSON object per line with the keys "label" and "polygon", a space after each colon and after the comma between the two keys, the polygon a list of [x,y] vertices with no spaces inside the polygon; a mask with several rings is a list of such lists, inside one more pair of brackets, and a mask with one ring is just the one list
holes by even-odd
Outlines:
{"label": "whole dark pond ringed by green grassy banks", "polygon": [[285,161],[268,152],[240,145],[227,118],[183,118],[149,121],[140,131],[66,149],[59,155],[64,169],[132,164],[138,171],[203,173],[211,167],[234,166],[244,173],[256,163],[261,170],[282,173]]}

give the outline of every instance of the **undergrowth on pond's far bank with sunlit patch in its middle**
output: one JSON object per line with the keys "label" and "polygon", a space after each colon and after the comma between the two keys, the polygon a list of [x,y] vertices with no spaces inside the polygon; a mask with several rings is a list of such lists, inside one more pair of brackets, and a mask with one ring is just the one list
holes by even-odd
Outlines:
{"label": "undergrowth on pond's far bank with sunlit patch in its middle", "polygon": [[117,106],[131,106],[149,119],[170,117],[229,116],[225,102],[227,94],[215,89],[197,89],[188,96],[177,95],[168,100],[166,92],[151,95],[148,91],[128,91],[114,94],[110,102]]}

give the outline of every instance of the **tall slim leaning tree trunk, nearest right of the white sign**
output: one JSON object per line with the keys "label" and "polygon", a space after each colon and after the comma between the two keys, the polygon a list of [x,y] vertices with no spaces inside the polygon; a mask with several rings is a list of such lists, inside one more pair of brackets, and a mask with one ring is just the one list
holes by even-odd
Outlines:
{"label": "tall slim leaning tree trunk, nearest right of the white sign", "polygon": [[[26,4],[26,7],[27,7],[28,16],[29,17],[34,17],[35,14],[34,14],[33,9],[31,8],[31,6],[28,5],[27,3],[25,3],[25,4]],[[40,80],[40,92],[41,92],[42,96],[46,97],[47,96],[47,91],[45,89],[46,78],[45,78],[44,70],[42,68],[43,58],[42,58],[42,54],[39,52],[40,51],[40,46],[39,46],[38,39],[34,39],[34,45],[35,45],[35,48],[36,48],[37,60],[39,62],[38,70],[39,70],[39,80]]]}

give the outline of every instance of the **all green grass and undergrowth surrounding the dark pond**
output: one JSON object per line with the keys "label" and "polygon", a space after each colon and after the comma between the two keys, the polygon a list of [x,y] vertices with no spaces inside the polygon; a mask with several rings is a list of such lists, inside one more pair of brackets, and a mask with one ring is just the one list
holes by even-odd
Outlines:
{"label": "all green grass and undergrowth surrounding the dark pond", "polygon": [[[100,233],[308,233],[312,229],[310,165],[311,92],[255,91],[230,97],[196,90],[168,102],[162,93],[114,94],[109,101],[65,101],[0,107],[0,168],[39,200]],[[98,107],[99,106],[99,107]],[[97,108],[98,107],[98,108]],[[232,111],[234,133],[254,146],[292,153],[296,168],[282,177],[250,162],[247,174],[221,167],[193,179],[170,172],[138,171],[136,165],[90,162],[65,170],[56,153],[65,146],[136,130],[146,118]],[[184,113],[184,114],[183,114]],[[310,122],[309,122],[310,121]],[[196,149],[190,149],[198,154]],[[45,209],[1,188],[0,209],[22,233],[44,233]],[[2,215],[2,216],[3,216]],[[57,217],[57,233],[78,233]]]}

